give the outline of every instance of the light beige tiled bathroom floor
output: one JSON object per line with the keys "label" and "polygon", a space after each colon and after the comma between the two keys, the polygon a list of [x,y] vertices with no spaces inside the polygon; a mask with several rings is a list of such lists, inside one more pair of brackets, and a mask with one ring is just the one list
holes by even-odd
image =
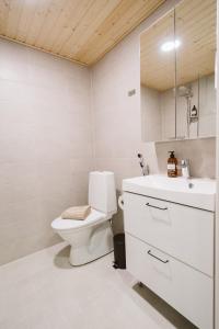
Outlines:
{"label": "light beige tiled bathroom floor", "polygon": [[195,328],[126,271],[113,254],[80,268],[65,243],[0,268],[0,329]]}

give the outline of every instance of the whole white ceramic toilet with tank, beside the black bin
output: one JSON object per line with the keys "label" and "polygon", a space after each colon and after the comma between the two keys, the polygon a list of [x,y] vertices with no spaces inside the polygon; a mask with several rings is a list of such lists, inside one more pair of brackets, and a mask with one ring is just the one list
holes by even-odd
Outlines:
{"label": "whole white ceramic toilet with tank, beside the black bin", "polygon": [[83,220],[56,218],[53,229],[71,245],[70,263],[82,265],[113,250],[110,219],[117,212],[114,173],[93,171],[89,178],[91,214]]}

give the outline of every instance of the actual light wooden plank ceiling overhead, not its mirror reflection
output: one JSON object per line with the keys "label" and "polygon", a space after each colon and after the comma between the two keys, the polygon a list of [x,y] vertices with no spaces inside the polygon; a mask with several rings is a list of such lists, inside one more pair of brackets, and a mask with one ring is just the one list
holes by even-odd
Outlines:
{"label": "actual light wooden plank ceiling overhead, not its mirror reflection", "polygon": [[0,0],[0,36],[92,65],[165,0]]}

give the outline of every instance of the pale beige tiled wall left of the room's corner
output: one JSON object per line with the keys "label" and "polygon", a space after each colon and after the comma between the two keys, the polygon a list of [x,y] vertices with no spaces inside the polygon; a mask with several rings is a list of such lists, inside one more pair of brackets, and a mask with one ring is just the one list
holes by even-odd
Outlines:
{"label": "pale beige tiled wall left of the room's corner", "polygon": [[55,243],[50,223],[87,202],[90,73],[0,39],[0,264]]}

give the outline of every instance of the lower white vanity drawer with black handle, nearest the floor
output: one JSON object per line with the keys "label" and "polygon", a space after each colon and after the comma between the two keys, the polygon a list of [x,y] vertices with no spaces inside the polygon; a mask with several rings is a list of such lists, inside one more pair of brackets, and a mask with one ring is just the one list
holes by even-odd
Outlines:
{"label": "lower white vanity drawer with black handle, nearest the floor", "polygon": [[212,329],[211,277],[128,234],[126,234],[126,264],[127,270],[137,280],[198,328]]}

